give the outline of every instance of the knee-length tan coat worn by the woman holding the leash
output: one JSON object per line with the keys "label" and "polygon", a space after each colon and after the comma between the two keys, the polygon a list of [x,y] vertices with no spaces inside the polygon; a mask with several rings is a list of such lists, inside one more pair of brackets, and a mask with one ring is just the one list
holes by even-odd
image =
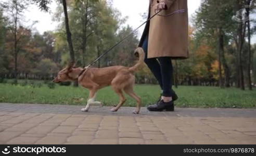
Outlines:
{"label": "knee-length tan coat worn by the woman holding the leash", "polygon": [[150,0],[148,18],[155,14],[159,2],[167,4],[167,9],[147,22],[139,47],[148,34],[148,58],[186,59],[188,58],[187,0]]}

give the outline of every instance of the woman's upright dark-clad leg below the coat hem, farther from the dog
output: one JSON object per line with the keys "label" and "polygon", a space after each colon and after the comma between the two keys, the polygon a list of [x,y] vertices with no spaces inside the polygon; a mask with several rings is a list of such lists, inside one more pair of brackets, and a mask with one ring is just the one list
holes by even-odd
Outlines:
{"label": "woman's upright dark-clad leg below the coat hem, farther from the dog", "polygon": [[172,100],[172,96],[175,95],[175,92],[172,90],[173,82],[173,67],[172,60],[170,57],[160,57],[158,58],[161,68],[162,75],[162,89],[163,89],[163,100],[164,102],[169,102]]}

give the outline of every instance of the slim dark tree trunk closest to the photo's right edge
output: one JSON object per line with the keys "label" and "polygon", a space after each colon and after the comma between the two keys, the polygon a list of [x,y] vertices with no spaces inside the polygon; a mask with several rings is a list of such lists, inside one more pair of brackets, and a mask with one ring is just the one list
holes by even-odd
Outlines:
{"label": "slim dark tree trunk closest to the photo's right edge", "polygon": [[[247,1],[247,5],[250,5],[251,0]],[[251,29],[250,29],[250,7],[246,8],[246,16],[249,18],[247,21],[248,29],[248,67],[247,67],[247,76],[248,76],[248,88],[252,90],[251,85]]]}

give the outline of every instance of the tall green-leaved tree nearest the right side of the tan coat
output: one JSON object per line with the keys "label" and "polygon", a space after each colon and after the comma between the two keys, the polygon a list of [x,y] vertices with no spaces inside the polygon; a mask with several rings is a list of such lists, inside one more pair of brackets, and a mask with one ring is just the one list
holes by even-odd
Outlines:
{"label": "tall green-leaved tree nearest the right side of the tan coat", "polygon": [[233,1],[204,0],[195,19],[197,33],[200,34],[198,39],[207,38],[209,42],[217,45],[214,47],[217,47],[218,51],[220,87],[223,87],[222,67],[225,71],[225,86],[229,87],[230,73],[225,59],[225,46],[230,40],[229,34],[233,31],[232,3]]}

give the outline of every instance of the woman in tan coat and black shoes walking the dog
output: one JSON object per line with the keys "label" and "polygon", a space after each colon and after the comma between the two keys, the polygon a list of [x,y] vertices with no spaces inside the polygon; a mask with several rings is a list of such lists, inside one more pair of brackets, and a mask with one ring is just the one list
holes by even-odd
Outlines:
{"label": "woman in tan coat and black shoes walking the dog", "polygon": [[145,63],[162,89],[161,97],[149,111],[174,111],[177,95],[172,89],[171,59],[188,58],[187,0],[150,0],[148,18],[139,47],[145,51]]}

